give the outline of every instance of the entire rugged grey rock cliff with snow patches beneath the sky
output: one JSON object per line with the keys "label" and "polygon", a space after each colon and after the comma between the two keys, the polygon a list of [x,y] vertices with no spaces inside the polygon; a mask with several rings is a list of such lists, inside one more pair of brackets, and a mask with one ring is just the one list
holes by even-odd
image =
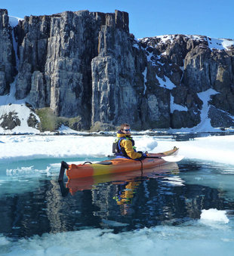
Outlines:
{"label": "entire rugged grey rock cliff with snow patches beneath the sky", "polygon": [[15,99],[38,114],[29,123],[42,130],[51,116],[75,130],[122,122],[192,128],[205,120],[227,128],[234,126],[233,45],[192,35],[137,40],[122,11],[25,17],[13,33],[0,10],[0,95],[14,81]]}

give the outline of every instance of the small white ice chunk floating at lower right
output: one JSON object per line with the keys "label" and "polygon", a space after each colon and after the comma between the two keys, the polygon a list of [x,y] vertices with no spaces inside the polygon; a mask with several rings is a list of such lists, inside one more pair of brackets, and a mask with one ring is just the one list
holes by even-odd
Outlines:
{"label": "small white ice chunk floating at lower right", "polygon": [[229,223],[229,219],[228,217],[226,217],[226,211],[219,211],[213,208],[208,210],[202,210],[201,220]]}

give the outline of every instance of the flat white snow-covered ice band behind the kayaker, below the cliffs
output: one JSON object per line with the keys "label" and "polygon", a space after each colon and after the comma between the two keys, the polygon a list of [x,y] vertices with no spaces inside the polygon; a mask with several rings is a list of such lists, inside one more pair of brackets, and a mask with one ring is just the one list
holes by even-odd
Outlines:
{"label": "flat white snow-covered ice band behind the kayaker, below the cliffs", "polygon": [[[40,159],[68,157],[105,157],[112,153],[115,137],[87,136],[0,136],[2,159]],[[202,159],[234,165],[234,135],[200,137],[189,141],[175,141],[170,137],[134,137],[137,150],[157,153],[180,148],[187,159]]]}

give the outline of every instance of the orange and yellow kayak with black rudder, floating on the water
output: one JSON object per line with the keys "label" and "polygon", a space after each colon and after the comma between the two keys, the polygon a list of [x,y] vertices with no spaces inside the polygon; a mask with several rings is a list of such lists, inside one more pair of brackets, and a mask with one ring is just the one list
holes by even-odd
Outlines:
{"label": "orange and yellow kayak with black rudder, floating on the water", "polygon": [[104,174],[114,174],[125,171],[137,171],[146,168],[152,168],[159,165],[165,165],[168,162],[177,162],[181,158],[177,157],[178,149],[174,147],[163,153],[150,153],[146,159],[141,161],[125,158],[115,158],[97,163],[85,162],[80,165],[68,165],[62,162],[60,168],[59,180],[63,180],[63,174],[66,169],[66,176],[69,180],[80,177],[91,177]]}

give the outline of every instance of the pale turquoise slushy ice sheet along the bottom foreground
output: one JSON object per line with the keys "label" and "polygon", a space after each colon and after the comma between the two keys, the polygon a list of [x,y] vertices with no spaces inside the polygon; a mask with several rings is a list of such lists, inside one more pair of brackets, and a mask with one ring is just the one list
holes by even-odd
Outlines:
{"label": "pale turquoise slushy ice sheet along the bottom foreground", "polygon": [[[209,215],[209,211],[207,214]],[[17,242],[11,242],[5,236],[0,236],[0,245],[3,255],[23,256],[32,254],[50,256],[189,254],[192,256],[206,255],[207,250],[211,255],[222,255],[223,251],[232,251],[234,243],[232,229],[223,223],[215,226],[215,229],[215,232],[211,232],[206,224],[192,221],[180,226],[157,226],[119,234],[112,233],[112,230],[100,229],[45,233],[42,236],[20,239]]]}

